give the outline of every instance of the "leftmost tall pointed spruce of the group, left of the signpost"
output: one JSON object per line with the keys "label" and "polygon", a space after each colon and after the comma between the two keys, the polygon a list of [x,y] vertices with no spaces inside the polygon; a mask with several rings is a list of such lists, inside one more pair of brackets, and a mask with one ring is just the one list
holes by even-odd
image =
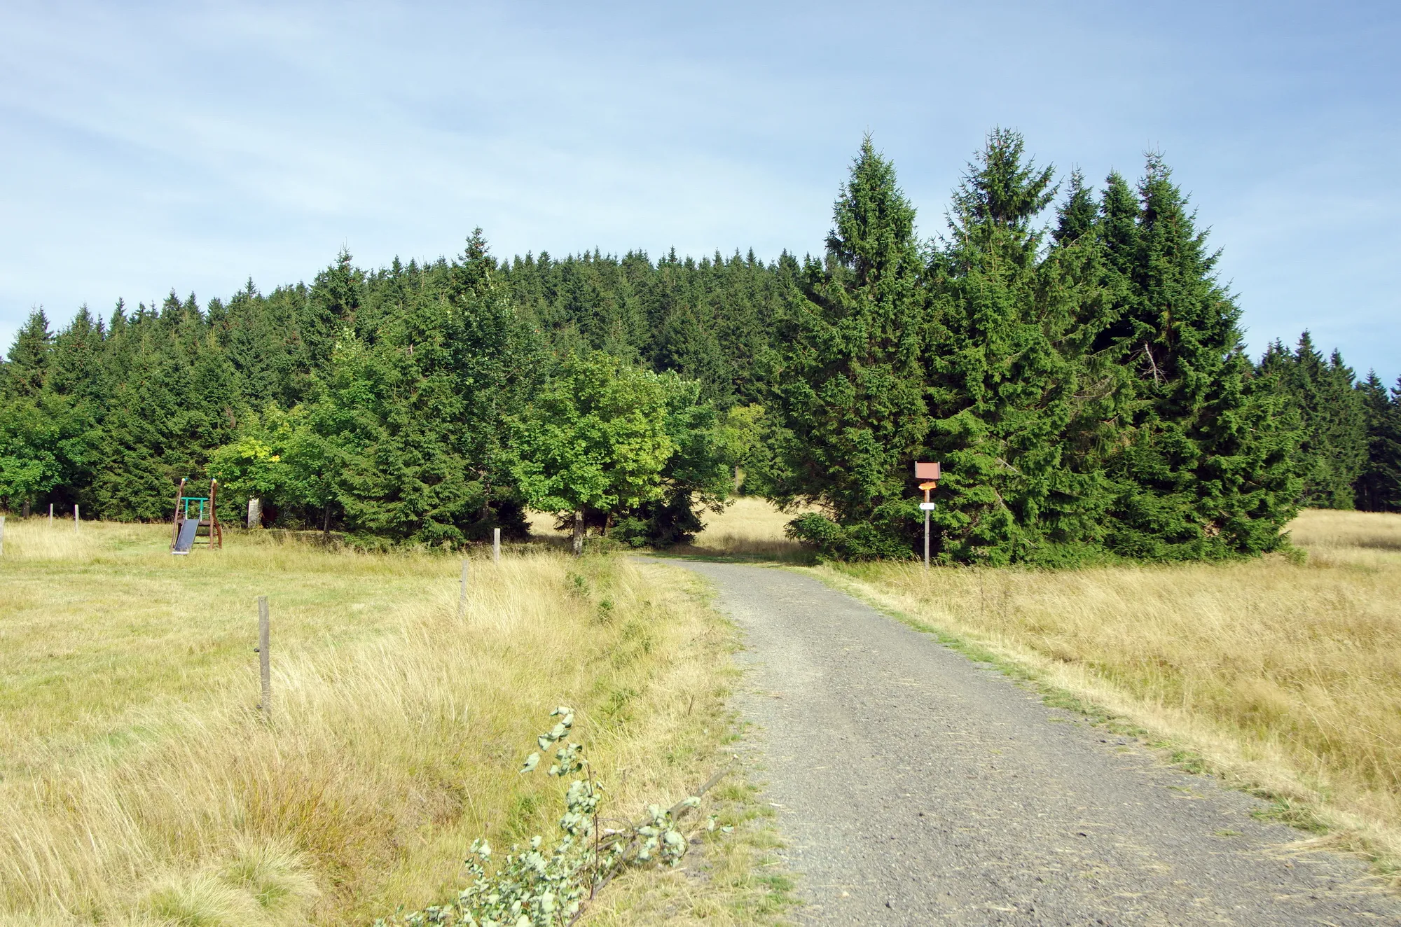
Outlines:
{"label": "leftmost tall pointed spruce of the group, left of the signpost", "polygon": [[[909,462],[930,427],[925,256],[915,209],[870,137],[832,221],[827,253],[804,266],[804,298],[779,332],[786,480],[776,492],[832,510],[845,553],[906,556],[915,522]],[[799,529],[834,534],[817,522]]]}

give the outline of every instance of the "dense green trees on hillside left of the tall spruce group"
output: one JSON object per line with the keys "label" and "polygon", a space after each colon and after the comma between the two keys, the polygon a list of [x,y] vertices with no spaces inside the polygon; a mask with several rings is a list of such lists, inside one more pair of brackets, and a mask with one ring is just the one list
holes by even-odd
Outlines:
{"label": "dense green trees on hillside left of the tall spruce group", "polygon": [[[674,542],[733,485],[751,371],[719,344],[762,336],[778,274],[752,255],[511,265],[478,232],[454,260],[366,272],[342,253],[311,286],[249,281],[207,307],[171,294],[109,322],[84,308],[57,335],[35,312],[0,367],[0,499],[160,520],[181,478],[214,475],[231,506],[259,496],[275,524],[366,543],[518,536],[528,503]],[[653,363],[675,372],[633,388]],[[569,435],[587,452],[566,471],[602,482],[565,504],[535,473],[569,456],[535,440],[558,424],[541,407],[590,372],[605,409],[580,413]],[[656,486],[619,493],[619,473]]]}

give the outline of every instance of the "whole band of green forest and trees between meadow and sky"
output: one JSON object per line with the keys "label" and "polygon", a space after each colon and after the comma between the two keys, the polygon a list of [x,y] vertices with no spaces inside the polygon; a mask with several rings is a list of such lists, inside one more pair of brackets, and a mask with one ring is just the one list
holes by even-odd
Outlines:
{"label": "whole band of green forest and trees between meadow and sky", "polygon": [[933,241],[864,144],[820,258],[453,260],[200,304],[35,312],[0,364],[0,501],[168,517],[179,478],[363,543],[524,532],[525,506],[670,543],[734,490],[814,501],[829,556],[1219,557],[1297,506],[1401,508],[1401,384],[1307,333],[1252,363],[1157,157],[1056,185],[1016,133]]}

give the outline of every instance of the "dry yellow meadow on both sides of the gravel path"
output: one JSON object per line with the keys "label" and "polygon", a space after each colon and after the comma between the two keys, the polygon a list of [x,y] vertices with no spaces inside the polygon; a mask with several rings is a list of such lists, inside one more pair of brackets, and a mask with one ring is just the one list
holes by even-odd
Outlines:
{"label": "dry yellow meadow on both sides of the gravel path", "polygon": [[[790,518],[741,499],[678,553],[794,564]],[[160,525],[7,524],[0,559],[0,924],[367,924],[451,896],[461,860],[549,832],[517,773],[579,709],[612,807],[724,762],[736,634],[661,564],[510,546],[499,564]],[[1401,515],[1306,511],[1306,557],[1070,571],[799,567],[1040,679],[1276,800],[1323,843],[1401,858]],[[664,571],[664,573],[663,573]],[[256,704],[258,595],[273,626]],[[754,816],[730,781],[705,814]],[[769,923],[772,833],[636,872],[587,924]],[[699,868],[692,868],[699,867]],[[703,870],[703,877],[698,872]]]}

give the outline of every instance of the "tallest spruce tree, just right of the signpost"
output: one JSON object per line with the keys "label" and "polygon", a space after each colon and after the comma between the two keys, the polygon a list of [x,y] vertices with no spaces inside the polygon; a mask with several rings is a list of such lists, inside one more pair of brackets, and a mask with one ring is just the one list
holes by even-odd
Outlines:
{"label": "tallest spruce tree, just right of the signpost", "polygon": [[1122,375],[1094,342],[1112,322],[1090,192],[1072,185],[1061,242],[1042,253],[1037,217],[1052,169],[996,129],[954,193],[933,265],[937,325],[926,456],[941,459],[943,557],[1007,563],[1079,559],[1100,541],[1108,487],[1103,421]]}

